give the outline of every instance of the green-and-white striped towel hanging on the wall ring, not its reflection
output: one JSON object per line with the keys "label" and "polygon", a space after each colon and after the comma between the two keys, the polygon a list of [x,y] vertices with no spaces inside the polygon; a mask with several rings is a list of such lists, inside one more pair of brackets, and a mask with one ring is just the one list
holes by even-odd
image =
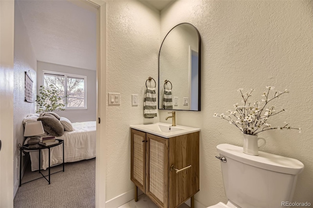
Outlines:
{"label": "green-and-white striped towel hanging on the wall ring, not its reflection", "polygon": [[143,102],[143,114],[145,118],[156,117],[156,88],[147,88]]}

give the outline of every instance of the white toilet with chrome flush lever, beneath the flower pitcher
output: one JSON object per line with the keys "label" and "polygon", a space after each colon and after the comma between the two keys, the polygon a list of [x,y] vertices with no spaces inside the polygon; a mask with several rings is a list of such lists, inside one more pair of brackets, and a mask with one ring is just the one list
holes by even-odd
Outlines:
{"label": "white toilet with chrome flush lever, beneath the flower pitcher", "polygon": [[243,147],[221,144],[224,188],[228,202],[208,208],[281,208],[291,202],[298,174],[304,165],[292,158],[259,151],[243,153]]}

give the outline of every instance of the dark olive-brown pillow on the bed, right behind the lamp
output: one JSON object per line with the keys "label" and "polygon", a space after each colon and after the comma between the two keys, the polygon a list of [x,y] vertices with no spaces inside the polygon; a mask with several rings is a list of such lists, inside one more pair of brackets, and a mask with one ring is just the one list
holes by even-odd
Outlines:
{"label": "dark olive-brown pillow on the bed, right behind the lamp", "polygon": [[63,125],[54,116],[44,115],[39,117],[37,121],[41,121],[43,123],[44,130],[52,136],[60,137],[64,133]]}

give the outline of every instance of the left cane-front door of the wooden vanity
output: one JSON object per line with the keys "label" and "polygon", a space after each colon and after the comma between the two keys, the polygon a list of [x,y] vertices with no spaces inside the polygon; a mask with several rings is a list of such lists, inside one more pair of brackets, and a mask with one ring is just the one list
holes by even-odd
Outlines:
{"label": "left cane-front door of the wooden vanity", "polygon": [[145,193],[146,133],[132,129],[131,135],[131,180]]}

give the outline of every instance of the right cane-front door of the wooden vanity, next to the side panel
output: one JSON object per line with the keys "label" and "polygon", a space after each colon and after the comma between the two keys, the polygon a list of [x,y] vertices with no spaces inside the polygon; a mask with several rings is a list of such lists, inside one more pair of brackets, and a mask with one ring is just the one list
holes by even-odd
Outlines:
{"label": "right cane-front door of the wooden vanity, next to the side panel", "polygon": [[158,207],[168,208],[168,139],[147,133],[146,194]]}

